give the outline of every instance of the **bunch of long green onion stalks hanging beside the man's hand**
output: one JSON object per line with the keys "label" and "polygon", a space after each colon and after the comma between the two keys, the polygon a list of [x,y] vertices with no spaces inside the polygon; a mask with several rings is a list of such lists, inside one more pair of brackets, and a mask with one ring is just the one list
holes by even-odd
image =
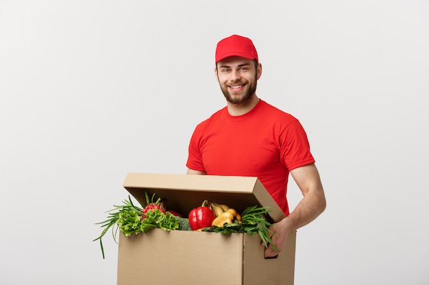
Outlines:
{"label": "bunch of long green onion stalks hanging beside the man's hand", "polygon": [[273,249],[278,251],[275,247],[271,236],[273,232],[269,230],[272,223],[268,221],[267,214],[270,211],[268,207],[247,207],[241,214],[241,223],[238,223],[236,219],[231,224],[225,223],[223,227],[212,226],[211,228],[203,229],[204,232],[219,232],[221,234],[230,234],[232,232],[245,232],[250,235],[259,234],[260,239],[264,243],[265,247],[270,244]]}

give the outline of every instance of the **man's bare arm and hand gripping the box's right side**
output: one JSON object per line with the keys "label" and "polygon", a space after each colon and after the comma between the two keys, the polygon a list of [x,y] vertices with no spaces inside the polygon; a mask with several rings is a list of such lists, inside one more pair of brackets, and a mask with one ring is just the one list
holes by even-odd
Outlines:
{"label": "man's bare arm and hand gripping the box's right side", "polygon": [[[291,175],[302,191],[304,198],[296,206],[295,210],[281,221],[274,223],[273,236],[274,245],[281,251],[286,245],[289,234],[310,221],[316,219],[326,208],[326,198],[321,184],[319,172],[314,163],[295,168]],[[271,246],[265,249],[265,257],[278,254]]]}

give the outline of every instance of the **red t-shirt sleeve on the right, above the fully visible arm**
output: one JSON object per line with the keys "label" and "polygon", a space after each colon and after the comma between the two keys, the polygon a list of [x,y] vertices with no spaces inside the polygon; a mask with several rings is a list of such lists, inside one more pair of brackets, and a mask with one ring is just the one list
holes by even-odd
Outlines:
{"label": "red t-shirt sleeve on the right, above the fully visible arm", "polygon": [[297,167],[314,163],[306,131],[298,120],[293,120],[280,135],[282,163],[291,171]]}

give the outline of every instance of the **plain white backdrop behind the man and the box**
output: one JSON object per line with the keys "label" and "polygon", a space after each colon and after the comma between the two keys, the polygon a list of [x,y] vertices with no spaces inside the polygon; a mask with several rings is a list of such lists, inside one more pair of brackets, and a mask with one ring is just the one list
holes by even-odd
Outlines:
{"label": "plain white backdrop behind the man and the box", "polygon": [[193,129],[225,105],[214,54],[233,33],[326,189],[295,284],[428,284],[428,15],[426,0],[0,1],[0,284],[116,284],[95,223],[128,172],[186,172]]}

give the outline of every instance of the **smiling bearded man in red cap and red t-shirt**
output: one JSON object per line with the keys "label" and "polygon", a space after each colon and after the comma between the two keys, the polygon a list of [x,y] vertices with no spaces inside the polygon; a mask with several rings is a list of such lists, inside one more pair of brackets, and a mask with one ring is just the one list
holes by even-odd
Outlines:
{"label": "smiling bearded man in red cap and red t-shirt", "polygon": [[[315,159],[299,121],[256,96],[262,65],[252,40],[237,35],[221,40],[215,59],[227,106],[195,128],[187,174],[258,177],[286,214],[271,228],[281,252],[291,232],[326,208]],[[291,213],[286,200],[289,173],[304,195]],[[265,257],[276,254],[271,246],[265,249]]]}

